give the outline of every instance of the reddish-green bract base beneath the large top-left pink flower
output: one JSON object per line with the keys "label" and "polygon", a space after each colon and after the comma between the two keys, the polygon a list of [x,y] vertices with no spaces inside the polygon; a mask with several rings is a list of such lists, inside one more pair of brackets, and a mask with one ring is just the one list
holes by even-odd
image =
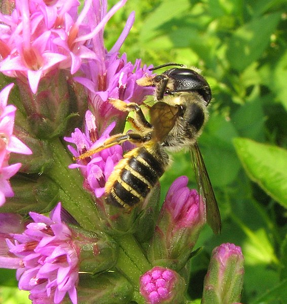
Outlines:
{"label": "reddish-green bract base beneath the large top-left pink flower", "polygon": [[76,84],[68,82],[62,70],[54,70],[41,78],[35,94],[27,79],[17,78],[17,84],[30,131],[38,139],[63,136],[69,120],[79,115],[82,118],[86,109],[84,91],[79,84],[75,89]]}

